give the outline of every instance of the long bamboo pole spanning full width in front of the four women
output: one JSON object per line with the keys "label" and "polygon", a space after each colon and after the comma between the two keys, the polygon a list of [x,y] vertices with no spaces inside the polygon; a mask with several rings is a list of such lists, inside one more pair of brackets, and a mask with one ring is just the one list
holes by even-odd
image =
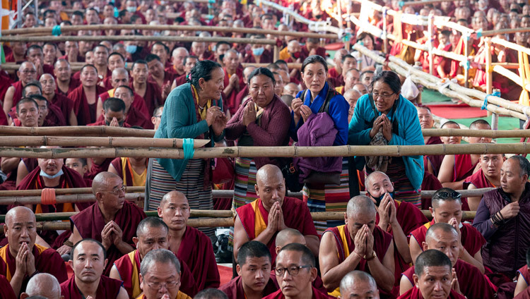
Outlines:
{"label": "long bamboo pole spanning full width in front of the four women", "polygon": [[[342,145],[331,147],[208,147],[194,151],[194,159],[218,157],[389,157],[421,154],[527,154],[530,145],[524,143],[465,144],[465,145]],[[163,148],[0,148],[0,157],[41,159],[143,157],[184,159],[184,151]]]}

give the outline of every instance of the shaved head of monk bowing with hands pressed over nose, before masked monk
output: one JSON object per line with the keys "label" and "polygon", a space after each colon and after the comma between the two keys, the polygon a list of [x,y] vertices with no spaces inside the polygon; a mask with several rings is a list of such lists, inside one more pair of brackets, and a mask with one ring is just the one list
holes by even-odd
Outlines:
{"label": "shaved head of monk bowing with hands pressed over nose, before masked monk", "polygon": [[370,197],[358,195],[348,202],[346,213],[344,213],[344,222],[348,226],[352,240],[355,239],[355,235],[361,229],[367,229],[373,233],[375,214],[375,205]]}

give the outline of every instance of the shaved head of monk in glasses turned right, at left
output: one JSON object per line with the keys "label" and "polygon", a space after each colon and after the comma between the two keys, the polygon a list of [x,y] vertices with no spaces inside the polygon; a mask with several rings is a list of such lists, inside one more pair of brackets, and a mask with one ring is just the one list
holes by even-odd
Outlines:
{"label": "shaved head of monk in glasses turned right, at left", "polygon": [[125,186],[117,174],[103,171],[92,181],[92,193],[105,217],[114,216],[125,202]]}

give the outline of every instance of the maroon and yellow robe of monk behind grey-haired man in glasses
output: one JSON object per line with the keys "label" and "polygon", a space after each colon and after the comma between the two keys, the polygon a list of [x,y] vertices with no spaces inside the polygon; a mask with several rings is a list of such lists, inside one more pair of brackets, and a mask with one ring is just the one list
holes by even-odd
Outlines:
{"label": "maroon and yellow robe of monk behind grey-haired man in glasses", "polygon": [[[175,253],[175,252],[174,252]],[[129,253],[130,254],[130,253]],[[189,267],[185,262],[180,261],[180,291],[183,293],[189,294],[191,296],[196,295],[197,287],[195,279],[193,278],[192,271],[189,271]],[[119,277],[123,281],[123,287],[125,291],[129,294],[129,298],[135,298],[133,294],[133,282],[139,286],[140,278],[138,274],[140,273],[140,253],[138,250],[134,250],[134,266],[132,264],[131,258],[129,255],[124,255],[114,262],[114,266],[118,270]],[[136,267],[136,276],[134,276]],[[136,279],[137,281],[133,281]]]}

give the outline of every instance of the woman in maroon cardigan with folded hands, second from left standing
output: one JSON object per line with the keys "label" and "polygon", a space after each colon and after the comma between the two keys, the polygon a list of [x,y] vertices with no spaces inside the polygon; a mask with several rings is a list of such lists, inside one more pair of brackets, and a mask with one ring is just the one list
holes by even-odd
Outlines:
{"label": "woman in maroon cardigan with folded hands, second from left standing", "polygon": [[[288,145],[290,111],[278,95],[274,94],[276,80],[267,68],[257,68],[248,81],[250,99],[247,99],[226,125],[227,140],[237,140],[240,146]],[[254,184],[261,166],[276,164],[278,159],[235,159],[235,190],[232,205],[235,209],[257,200]]]}

